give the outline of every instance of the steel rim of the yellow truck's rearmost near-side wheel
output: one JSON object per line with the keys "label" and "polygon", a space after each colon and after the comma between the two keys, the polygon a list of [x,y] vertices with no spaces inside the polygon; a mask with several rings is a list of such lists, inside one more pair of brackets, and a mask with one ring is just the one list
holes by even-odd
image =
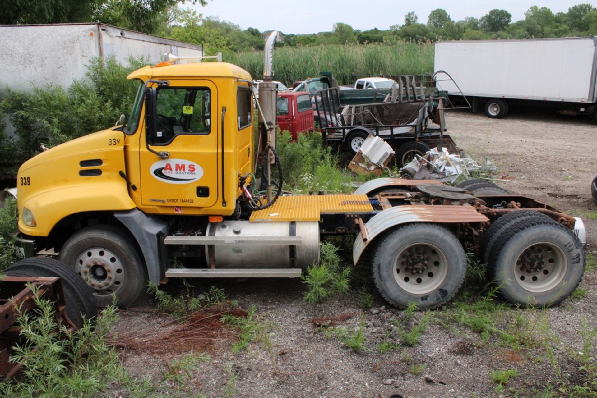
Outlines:
{"label": "steel rim of the yellow truck's rearmost near-side wheel", "polygon": [[516,258],[515,280],[531,293],[544,293],[556,288],[568,272],[568,258],[557,245],[538,242],[527,246]]}

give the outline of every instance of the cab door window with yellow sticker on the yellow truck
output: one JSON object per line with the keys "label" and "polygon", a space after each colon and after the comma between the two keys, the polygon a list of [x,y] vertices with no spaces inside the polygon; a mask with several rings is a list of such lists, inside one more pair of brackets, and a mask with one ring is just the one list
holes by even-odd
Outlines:
{"label": "cab door window with yellow sticker on the yellow truck", "polygon": [[155,142],[166,144],[179,134],[209,134],[211,92],[208,88],[159,88]]}

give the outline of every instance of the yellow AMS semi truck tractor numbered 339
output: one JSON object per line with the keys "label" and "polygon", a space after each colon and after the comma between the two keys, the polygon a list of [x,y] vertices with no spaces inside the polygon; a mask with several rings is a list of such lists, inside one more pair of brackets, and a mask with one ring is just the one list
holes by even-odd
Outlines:
{"label": "yellow AMS semi truck tractor numbered 339", "polygon": [[[40,153],[17,177],[23,252],[53,249],[98,306],[113,295],[129,306],[148,281],[173,277],[299,277],[323,235],[354,235],[355,265],[367,258],[359,266],[397,307],[450,300],[464,246],[512,303],[557,304],[583,276],[580,220],[484,181],[378,178],[352,195],[281,195],[277,178],[254,198],[258,147],[272,159],[264,178],[278,167],[275,91],[260,93],[254,138],[253,79],[238,66],[162,62],[128,79],[139,90],[126,122]],[[170,268],[174,258],[192,265]]]}

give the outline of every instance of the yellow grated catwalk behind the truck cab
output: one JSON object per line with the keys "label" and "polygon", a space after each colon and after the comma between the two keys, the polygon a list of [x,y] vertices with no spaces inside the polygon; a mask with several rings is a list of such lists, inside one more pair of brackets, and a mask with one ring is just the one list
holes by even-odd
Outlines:
{"label": "yellow grated catwalk behind the truck cab", "polygon": [[254,211],[251,221],[319,221],[320,213],[370,211],[367,195],[281,196],[272,207]]}

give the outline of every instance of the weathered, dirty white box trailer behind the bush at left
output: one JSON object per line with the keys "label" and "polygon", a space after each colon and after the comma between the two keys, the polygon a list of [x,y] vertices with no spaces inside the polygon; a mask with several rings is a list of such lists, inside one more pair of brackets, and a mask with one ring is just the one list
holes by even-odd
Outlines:
{"label": "weathered, dirty white box trailer behind the bush at left", "polygon": [[6,88],[31,91],[33,85],[69,87],[85,78],[94,57],[146,57],[159,62],[165,53],[201,56],[199,45],[134,32],[101,23],[0,26],[0,96]]}

